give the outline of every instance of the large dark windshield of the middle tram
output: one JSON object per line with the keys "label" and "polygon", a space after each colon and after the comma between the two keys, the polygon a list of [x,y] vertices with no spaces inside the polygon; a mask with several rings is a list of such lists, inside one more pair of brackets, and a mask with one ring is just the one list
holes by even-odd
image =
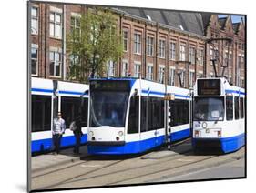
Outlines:
{"label": "large dark windshield of the middle tram", "polygon": [[95,91],[90,94],[90,127],[125,127],[128,91]]}

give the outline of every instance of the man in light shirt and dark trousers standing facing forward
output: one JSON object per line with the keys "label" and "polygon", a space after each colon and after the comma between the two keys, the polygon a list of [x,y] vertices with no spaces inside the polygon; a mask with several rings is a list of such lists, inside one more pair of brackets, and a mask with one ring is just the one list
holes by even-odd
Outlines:
{"label": "man in light shirt and dark trousers standing facing forward", "polygon": [[65,120],[61,118],[61,113],[57,113],[57,118],[54,119],[53,127],[53,142],[55,145],[55,155],[59,153],[59,147],[61,142],[61,137],[66,129]]}

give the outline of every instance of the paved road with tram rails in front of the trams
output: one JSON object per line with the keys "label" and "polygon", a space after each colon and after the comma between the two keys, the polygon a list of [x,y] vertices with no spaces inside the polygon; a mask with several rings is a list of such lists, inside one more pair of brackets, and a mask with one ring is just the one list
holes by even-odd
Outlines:
{"label": "paved road with tram rails in front of the trams", "polygon": [[[190,141],[138,157],[86,157],[32,174],[32,189],[97,187],[244,176],[244,149],[228,155],[194,155]],[[198,173],[195,173],[197,171]],[[228,174],[222,175],[222,174]]]}

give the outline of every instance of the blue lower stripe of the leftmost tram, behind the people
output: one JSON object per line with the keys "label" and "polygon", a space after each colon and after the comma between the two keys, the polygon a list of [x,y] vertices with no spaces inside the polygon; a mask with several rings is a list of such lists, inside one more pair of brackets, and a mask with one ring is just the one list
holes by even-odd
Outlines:
{"label": "blue lower stripe of the leftmost tram, behind the people", "polygon": [[[74,146],[76,143],[76,139],[74,136],[62,137],[61,138],[61,147],[69,147]],[[81,144],[87,143],[87,134],[81,137]],[[32,152],[39,152],[50,150],[53,147],[53,140],[52,138],[34,140],[31,142],[31,151]]]}

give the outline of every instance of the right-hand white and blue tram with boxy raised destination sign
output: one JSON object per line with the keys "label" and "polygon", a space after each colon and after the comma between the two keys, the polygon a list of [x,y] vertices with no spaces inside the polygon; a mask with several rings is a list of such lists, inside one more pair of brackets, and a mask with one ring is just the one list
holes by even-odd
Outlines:
{"label": "right-hand white and blue tram with boxy raised destination sign", "polygon": [[195,151],[220,148],[229,153],[244,146],[245,91],[226,78],[199,78],[194,86],[193,137]]}

